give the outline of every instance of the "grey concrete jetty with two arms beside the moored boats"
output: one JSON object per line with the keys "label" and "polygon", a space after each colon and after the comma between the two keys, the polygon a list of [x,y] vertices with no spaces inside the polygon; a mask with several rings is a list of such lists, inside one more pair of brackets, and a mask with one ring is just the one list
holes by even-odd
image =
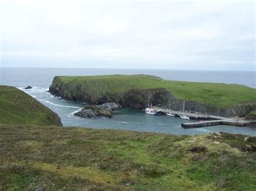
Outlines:
{"label": "grey concrete jetty with two arms beside the moored boats", "polygon": [[207,121],[200,121],[200,122],[188,122],[188,123],[181,123],[183,128],[200,128],[203,126],[213,126],[213,125],[235,125],[235,126],[247,126],[256,124],[256,120],[246,120],[245,117],[220,117],[220,116],[213,116],[207,114],[198,114],[198,113],[191,113],[191,112],[182,112],[182,111],[173,111],[168,110],[161,107],[155,107],[154,110],[161,110],[163,114],[166,112],[171,112],[176,116],[179,115],[186,115],[190,119],[202,119]]}

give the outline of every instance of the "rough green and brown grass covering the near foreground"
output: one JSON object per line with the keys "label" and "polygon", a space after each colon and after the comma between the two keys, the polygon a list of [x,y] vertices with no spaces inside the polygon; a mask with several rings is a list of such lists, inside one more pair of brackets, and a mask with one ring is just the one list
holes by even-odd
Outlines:
{"label": "rough green and brown grass covering the near foreground", "polygon": [[0,190],[255,190],[244,138],[2,125]]}

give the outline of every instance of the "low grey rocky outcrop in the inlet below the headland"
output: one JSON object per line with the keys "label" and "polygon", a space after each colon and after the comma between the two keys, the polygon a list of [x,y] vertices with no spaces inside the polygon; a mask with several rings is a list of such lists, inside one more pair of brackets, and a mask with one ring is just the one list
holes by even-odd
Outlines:
{"label": "low grey rocky outcrop in the inlet below the headland", "polygon": [[86,105],[82,110],[76,112],[74,115],[78,117],[106,117],[112,118],[111,111],[122,109],[123,107],[115,102],[107,102],[101,105]]}

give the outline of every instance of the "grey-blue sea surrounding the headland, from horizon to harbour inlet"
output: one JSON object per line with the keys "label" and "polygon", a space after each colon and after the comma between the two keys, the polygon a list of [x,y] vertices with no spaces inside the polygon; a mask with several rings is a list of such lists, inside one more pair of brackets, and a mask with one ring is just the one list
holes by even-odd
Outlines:
{"label": "grey-blue sea surrounding the headland, from horizon to harbour inlet", "polygon": [[[95,129],[120,129],[171,133],[173,135],[197,135],[210,132],[230,132],[244,135],[256,135],[256,128],[217,125],[204,128],[183,129],[181,123],[186,120],[170,116],[151,116],[144,111],[122,109],[113,112],[112,119],[79,118],[74,112],[83,108],[83,103],[65,101],[54,97],[49,86],[54,76],[59,75],[109,75],[109,74],[150,74],[166,80],[237,83],[256,88],[256,72],[234,72],[213,70],[150,70],[150,69],[93,69],[93,68],[1,68],[0,84],[15,86],[36,98],[56,112],[64,126],[89,127]],[[24,90],[26,86],[32,89]],[[192,120],[191,120],[192,121]],[[187,121],[186,121],[187,122]]]}

